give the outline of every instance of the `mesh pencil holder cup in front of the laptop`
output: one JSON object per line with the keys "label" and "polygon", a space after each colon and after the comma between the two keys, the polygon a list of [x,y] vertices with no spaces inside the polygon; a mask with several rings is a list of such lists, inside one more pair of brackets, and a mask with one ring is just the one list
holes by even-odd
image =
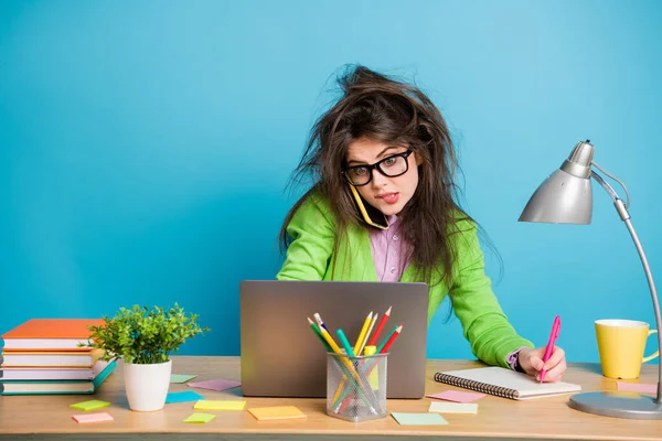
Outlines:
{"label": "mesh pencil holder cup in front of the laptop", "polygon": [[327,354],[327,415],[349,421],[385,418],[388,354]]}

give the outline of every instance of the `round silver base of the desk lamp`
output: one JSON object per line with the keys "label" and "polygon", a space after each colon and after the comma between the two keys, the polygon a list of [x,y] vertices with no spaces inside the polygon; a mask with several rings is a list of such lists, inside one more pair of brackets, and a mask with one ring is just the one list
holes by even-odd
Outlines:
{"label": "round silver base of the desk lamp", "polygon": [[655,397],[636,392],[586,392],[570,397],[569,406],[583,412],[637,420],[662,419],[662,405]]}

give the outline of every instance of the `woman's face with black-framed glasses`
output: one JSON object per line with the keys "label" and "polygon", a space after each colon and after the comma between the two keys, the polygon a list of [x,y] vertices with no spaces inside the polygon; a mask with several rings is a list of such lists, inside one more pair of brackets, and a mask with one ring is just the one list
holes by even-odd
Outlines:
{"label": "woman's face with black-framed glasses", "polygon": [[[348,147],[346,174],[356,183],[370,179],[365,185],[355,185],[356,190],[369,204],[386,216],[402,212],[414,196],[418,185],[417,165],[420,161],[416,158],[416,153],[410,152],[408,157],[397,155],[407,152],[406,147],[386,144],[367,138],[359,138]],[[381,173],[376,166],[369,170],[369,165],[377,162],[381,169],[391,175],[407,171],[389,178]]]}

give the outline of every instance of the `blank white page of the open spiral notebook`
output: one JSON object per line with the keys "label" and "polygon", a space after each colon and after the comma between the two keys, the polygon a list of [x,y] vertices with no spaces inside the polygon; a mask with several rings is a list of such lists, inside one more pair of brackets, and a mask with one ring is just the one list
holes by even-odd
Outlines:
{"label": "blank white page of the open spiral notebook", "polygon": [[534,398],[558,394],[572,394],[581,390],[581,386],[569,383],[538,383],[534,377],[503,367],[479,367],[445,372],[459,378],[480,381],[492,386],[516,390],[519,399]]}

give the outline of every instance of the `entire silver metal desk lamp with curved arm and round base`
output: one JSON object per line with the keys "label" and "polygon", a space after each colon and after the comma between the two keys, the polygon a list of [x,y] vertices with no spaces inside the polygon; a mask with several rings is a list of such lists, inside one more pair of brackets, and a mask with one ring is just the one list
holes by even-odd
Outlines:
{"label": "entire silver metal desk lamp with curved arm and round base", "polygon": [[[655,310],[655,322],[658,329],[662,329],[660,318],[660,304],[653,282],[653,276],[648,260],[637,237],[634,227],[630,222],[628,206],[630,195],[626,185],[602,170],[592,160],[594,146],[589,140],[579,141],[567,160],[563,162],[559,170],[552,173],[545,182],[537,187],[531,200],[524,207],[520,222],[544,222],[552,224],[590,224],[592,213],[591,178],[596,180],[613,201],[616,211],[626,223],[641,263],[648,279],[648,284],[653,299]],[[613,189],[605,182],[595,170],[617,181],[626,192],[626,202],[620,200]],[[658,344],[662,348],[662,333],[658,334]],[[658,365],[658,396],[648,397],[627,392],[585,392],[570,397],[569,406],[584,412],[604,415],[607,417],[631,418],[631,419],[662,419],[662,370]]]}

